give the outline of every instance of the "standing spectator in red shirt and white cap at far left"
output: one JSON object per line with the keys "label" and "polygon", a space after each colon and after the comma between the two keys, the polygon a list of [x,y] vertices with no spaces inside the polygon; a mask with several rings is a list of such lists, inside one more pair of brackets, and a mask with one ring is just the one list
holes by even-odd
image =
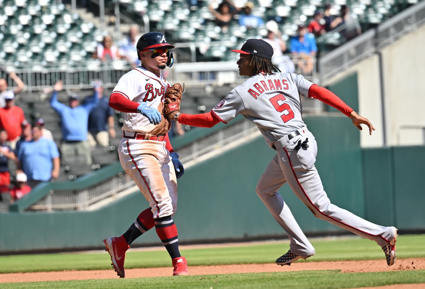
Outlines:
{"label": "standing spectator in red shirt and white cap at far left", "polygon": [[22,134],[22,123],[25,121],[25,116],[22,108],[15,106],[13,92],[6,91],[3,95],[6,106],[0,108],[0,129],[7,131],[7,140],[11,148],[14,149]]}

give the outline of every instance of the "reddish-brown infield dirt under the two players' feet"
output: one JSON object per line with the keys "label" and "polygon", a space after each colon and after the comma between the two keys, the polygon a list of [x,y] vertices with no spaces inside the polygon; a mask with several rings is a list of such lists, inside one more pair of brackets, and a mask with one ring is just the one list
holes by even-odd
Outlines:
{"label": "reddish-brown infield dirt under the two players' feet", "polygon": [[[291,266],[278,266],[273,264],[232,264],[221,266],[189,266],[190,275],[229,274],[248,272],[289,272],[303,270],[341,270],[341,272],[382,272],[397,270],[425,270],[425,258],[397,259],[394,266],[388,267],[385,260],[369,261],[329,261],[306,262],[297,261]],[[126,269],[126,278],[161,277],[172,275],[172,267]],[[60,272],[29,272],[0,274],[0,283],[3,282],[33,282],[33,281],[61,281],[61,280],[86,280],[86,279],[111,279],[118,278],[111,270],[90,271],[60,271]],[[380,289],[419,289],[425,288],[422,284],[390,285],[375,287]],[[364,288],[363,288],[364,289]]]}

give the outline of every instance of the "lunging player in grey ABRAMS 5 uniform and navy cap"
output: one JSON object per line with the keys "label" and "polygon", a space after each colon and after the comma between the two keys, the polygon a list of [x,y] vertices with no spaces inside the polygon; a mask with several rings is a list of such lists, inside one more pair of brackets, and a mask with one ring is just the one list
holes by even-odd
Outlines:
{"label": "lunging player in grey ABRAMS 5 uniform and navy cap", "polygon": [[[272,216],[286,231],[290,249],[277,258],[278,265],[290,265],[297,259],[314,255],[314,247],[301,231],[278,190],[288,183],[297,197],[315,217],[331,222],[359,236],[374,240],[382,247],[387,265],[394,264],[397,229],[373,224],[332,204],[317,173],[317,144],[303,122],[300,97],[311,97],[340,110],[362,130],[367,125],[369,134],[375,128],[365,117],[359,116],[329,90],[306,80],[302,75],[282,73],[272,64],[273,49],[261,39],[248,39],[236,62],[239,74],[249,76],[232,89],[215,108],[205,114],[171,114],[175,120],[198,127],[212,127],[218,122],[228,123],[238,114],[255,123],[275,157],[266,167],[255,189]],[[280,72],[280,73],[279,73]]]}

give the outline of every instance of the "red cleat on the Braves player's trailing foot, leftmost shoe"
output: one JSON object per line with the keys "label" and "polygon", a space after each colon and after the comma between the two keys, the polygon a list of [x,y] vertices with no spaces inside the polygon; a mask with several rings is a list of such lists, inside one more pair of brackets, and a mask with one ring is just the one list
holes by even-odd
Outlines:
{"label": "red cleat on the Braves player's trailing foot, leftmost shoe", "polygon": [[105,243],[106,249],[109,255],[111,255],[112,266],[115,269],[116,275],[120,278],[125,277],[124,272],[124,259],[125,259],[125,251],[130,248],[127,244],[127,241],[121,237],[108,237],[103,240]]}

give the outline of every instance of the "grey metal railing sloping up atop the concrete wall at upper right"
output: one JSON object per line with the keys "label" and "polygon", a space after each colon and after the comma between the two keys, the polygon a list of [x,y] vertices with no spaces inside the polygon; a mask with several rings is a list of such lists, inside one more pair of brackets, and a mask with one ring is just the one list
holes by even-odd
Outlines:
{"label": "grey metal railing sloping up atop the concrete wall at upper right", "polygon": [[326,53],[319,60],[320,82],[325,83],[360,60],[376,53],[425,22],[425,1],[407,8],[377,28]]}

